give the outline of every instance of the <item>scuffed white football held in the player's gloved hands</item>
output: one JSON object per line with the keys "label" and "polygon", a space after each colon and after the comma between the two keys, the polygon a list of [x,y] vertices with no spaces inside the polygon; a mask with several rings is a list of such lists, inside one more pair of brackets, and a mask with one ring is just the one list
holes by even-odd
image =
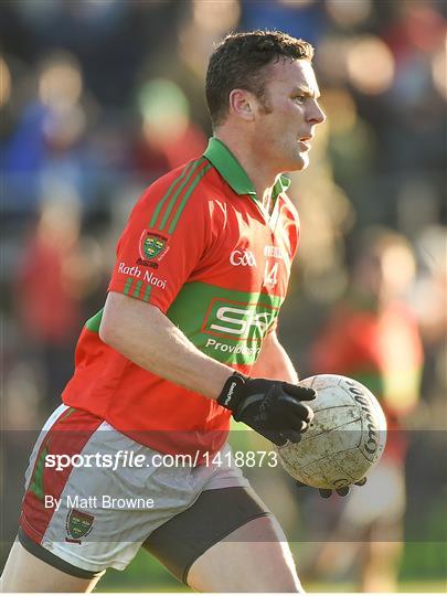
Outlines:
{"label": "scuffed white football held in the player's gloved hands", "polygon": [[315,488],[337,489],[362,479],[385,449],[386,419],[364,385],[337,374],[299,382],[312,387],[315,416],[301,441],[276,447],[284,469]]}

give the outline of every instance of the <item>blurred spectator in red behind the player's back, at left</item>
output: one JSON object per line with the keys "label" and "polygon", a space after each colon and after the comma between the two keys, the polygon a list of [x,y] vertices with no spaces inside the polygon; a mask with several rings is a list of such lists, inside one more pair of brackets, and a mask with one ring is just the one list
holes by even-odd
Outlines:
{"label": "blurred spectator in red behind the player's back, at left", "polygon": [[70,190],[53,189],[54,194],[43,200],[38,225],[23,243],[14,280],[25,349],[38,352],[43,363],[45,409],[58,403],[72,373],[81,304],[92,277],[79,245],[81,205]]}

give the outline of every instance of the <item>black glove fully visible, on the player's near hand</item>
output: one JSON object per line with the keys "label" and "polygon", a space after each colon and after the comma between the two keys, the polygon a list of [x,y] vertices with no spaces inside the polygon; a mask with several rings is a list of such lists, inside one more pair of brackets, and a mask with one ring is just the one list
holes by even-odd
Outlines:
{"label": "black glove fully visible, on the player's near hand", "polygon": [[217,397],[217,403],[232,411],[237,422],[275,443],[287,439],[299,443],[313,418],[312,409],[301,402],[317,396],[312,389],[270,379],[249,379],[232,374]]}

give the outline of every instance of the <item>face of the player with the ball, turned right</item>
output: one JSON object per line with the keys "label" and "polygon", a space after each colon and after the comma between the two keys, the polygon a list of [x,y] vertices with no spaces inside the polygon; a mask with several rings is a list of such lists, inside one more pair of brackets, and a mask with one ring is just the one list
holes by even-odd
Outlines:
{"label": "face of the player with the ball, turned right", "polygon": [[302,170],[315,127],[326,119],[313,68],[307,60],[279,60],[267,68],[265,100],[255,103],[254,151],[277,171]]}

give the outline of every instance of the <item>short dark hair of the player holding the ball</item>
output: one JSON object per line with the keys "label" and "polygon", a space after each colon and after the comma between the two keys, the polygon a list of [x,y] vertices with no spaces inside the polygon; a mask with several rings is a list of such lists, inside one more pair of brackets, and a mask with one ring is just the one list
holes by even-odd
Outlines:
{"label": "short dark hair of the player holding the ball", "polygon": [[310,43],[280,31],[231,33],[216,46],[206,72],[206,103],[213,128],[228,114],[228,97],[233,89],[247,89],[265,98],[265,66],[280,58],[313,57]]}

